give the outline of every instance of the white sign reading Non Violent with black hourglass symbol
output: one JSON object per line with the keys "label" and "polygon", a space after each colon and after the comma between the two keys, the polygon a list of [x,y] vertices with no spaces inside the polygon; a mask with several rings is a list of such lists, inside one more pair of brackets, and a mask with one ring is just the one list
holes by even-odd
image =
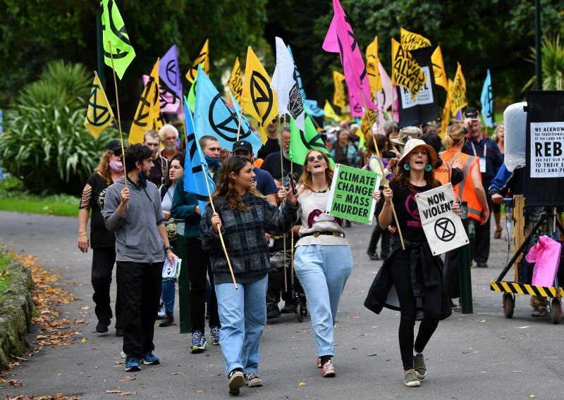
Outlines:
{"label": "white sign reading Non Violent with black hourglass symbol", "polygon": [[417,193],[415,199],[423,231],[434,256],[469,243],[460,217],[452,210],[453,185],[448,183]]}

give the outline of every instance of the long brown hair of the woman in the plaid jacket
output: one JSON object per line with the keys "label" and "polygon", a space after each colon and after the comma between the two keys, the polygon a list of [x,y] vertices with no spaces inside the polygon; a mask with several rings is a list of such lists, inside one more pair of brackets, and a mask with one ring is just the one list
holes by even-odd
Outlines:
{"label": "long brown hair of the woman in the plaid jacket", "polygon": [[[235,208],[239,211],[250,210],[250,208],[243,203],[243,200],[235,187],[235,181],[231,179],[231,173],[240,173],[247,163],[252,165],[250,159],[243,156],[231,156],[223,161],[221,169],[219,170],[219,182],[214,190],[214,194],[212,194],[212,201],[214,201],[217,197],[224,197],[227,201],[229,201],[229,206],[232,210],[235,210]],[[264,196],[255,188],[247,189],[247,192],[264,199]]]}

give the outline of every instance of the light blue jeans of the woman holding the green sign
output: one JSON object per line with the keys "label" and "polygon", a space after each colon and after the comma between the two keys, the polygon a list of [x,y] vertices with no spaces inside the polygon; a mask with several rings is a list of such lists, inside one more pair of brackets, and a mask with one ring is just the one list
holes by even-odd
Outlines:
{"label": "light blue jeans of the woman holding the green sign", "polygon": [[333,325],[341,294],[353,270],[350,246],[298,246],[294,254],[294,270],[312,315],[317,356],[334,356]]}

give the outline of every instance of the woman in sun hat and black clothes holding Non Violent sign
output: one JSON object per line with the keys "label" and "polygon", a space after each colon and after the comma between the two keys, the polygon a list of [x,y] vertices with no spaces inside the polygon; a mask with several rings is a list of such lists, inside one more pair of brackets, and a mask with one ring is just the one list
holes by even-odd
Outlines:
{"label": "woman in sun hat and black clothes holding Non Violent sign", "polygon": [[[420,380],[427,375],[422,351],[431,339],[439,320],[447,318],[452,311],[448,295],[443,289],[442,267],[439,256],[433,256],[425,237],[415,194],[441,186],[434,177],[436,164],[434,149],[420,139],[411,139],[405,144],[398,168],[389,185],[384,185],[384,207],[379,215],[382,229],[390,225],[394,209],[400,237],[394,235],[391,254],[380,268],[370,287],[364,306],[376,313],[382,308],[400,310],[398,337],[403,362],[403,382],[407,387],[421,386]],[[460,210],[458,204],[453,211]],[[405,246],[405,249],[403,249]],[[398,304],[392,304],[388,292],[397,294]],[[422,304],[424,318],[414,344],[415,315],[418,302]]]}

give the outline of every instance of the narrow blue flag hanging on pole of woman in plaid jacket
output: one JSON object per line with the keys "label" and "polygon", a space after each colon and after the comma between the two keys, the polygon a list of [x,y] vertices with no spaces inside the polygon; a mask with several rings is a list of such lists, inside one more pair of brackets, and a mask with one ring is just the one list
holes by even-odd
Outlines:
{"label": "narrow blue flag hanging on pole of woman in plaid jacket", "polygon": [[[201,75],[200,75],[201,76]],[[184,97],[184,115],[186,127],[186,158],[184,161],[184,191],[197,196],[200,212],[204,212],[209,201],[209,194],[214,192],[215,184],[209,173],[202,147],[194,129],[192,113],[188,109],[188,100]],[[209,192],[208,186],[209,185]]]}

